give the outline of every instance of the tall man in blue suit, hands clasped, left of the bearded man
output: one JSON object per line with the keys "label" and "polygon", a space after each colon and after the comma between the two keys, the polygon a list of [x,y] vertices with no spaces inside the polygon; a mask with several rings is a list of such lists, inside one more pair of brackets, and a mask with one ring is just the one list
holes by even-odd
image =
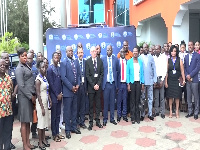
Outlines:
{"label": "tall man in blue suit, hands clasped, left of the bearded man", "polygon": [[80,69],[73,60],[73,49],[66,47],[66,59],[61,62],[61,80],[63,83],[63,104],[66,137],[71,138],[72,133],[81,134],[77,129],[77,91],[80,85]]}

